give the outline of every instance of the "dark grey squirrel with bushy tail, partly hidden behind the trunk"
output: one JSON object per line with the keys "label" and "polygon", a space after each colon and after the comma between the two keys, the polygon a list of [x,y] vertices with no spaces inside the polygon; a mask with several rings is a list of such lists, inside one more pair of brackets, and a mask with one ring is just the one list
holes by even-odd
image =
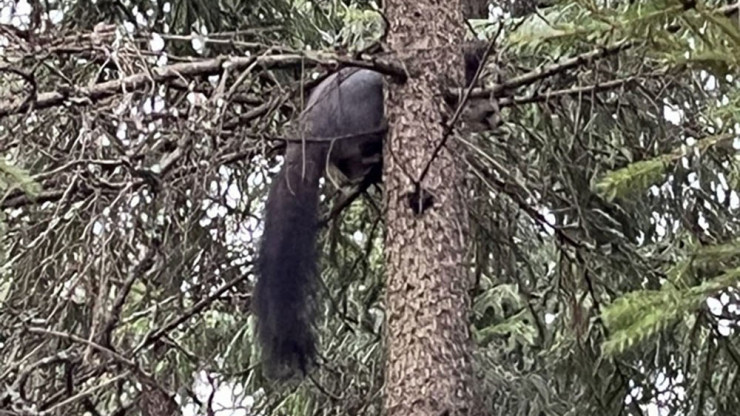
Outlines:
{"label": "dark grey squirrel with bushy tail, partly hidden behind the trunk", "polygon": [[[472,82],[482,49],[465,56]],[[311,91],[267,197],[254,311],[263,369],[271,378],[306,373],[316,354],[319,179],[327,161],[353,182],[380,180],[385,137],[382,75],[345,68]]]}

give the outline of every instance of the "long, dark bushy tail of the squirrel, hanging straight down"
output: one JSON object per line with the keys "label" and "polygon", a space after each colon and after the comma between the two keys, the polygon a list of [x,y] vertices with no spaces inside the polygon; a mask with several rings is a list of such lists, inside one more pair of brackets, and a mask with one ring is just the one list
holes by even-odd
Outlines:
{"label": "long, dark bushy tail of the squirrel, hanging straight down", "polygon": [[316,352],[317,212],[324,154],[315,143],[289,144],[267,197],[254,302],[263,371],[271,378],[288,378],[296,370],[305,374]]}

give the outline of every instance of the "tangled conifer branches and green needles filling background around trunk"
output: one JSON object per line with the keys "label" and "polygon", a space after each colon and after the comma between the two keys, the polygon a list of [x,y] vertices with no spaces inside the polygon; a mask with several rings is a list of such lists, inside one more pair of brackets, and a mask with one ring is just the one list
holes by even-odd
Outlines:
{"label": "tangled conifer branches and green needles filling background around trunk", "polygon": [[[499,126],[455,139],[485,405],[737,414],[737,4],[535,3],[472,22]],[[379,414],[377,189],[322,235],[309,379],[262,379],[249,315],[283,125],[372,65],[344,51],[381,39],[374,6],[1,5],[0,411]]]}

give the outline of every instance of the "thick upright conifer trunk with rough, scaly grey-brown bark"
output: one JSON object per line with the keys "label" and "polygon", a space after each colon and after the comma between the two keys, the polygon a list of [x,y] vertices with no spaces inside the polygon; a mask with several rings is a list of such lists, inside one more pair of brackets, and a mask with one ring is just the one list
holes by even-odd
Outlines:
{"label": "thick upright conifer trunk with rough, scaly grey-brown bark", "polygon": [[386,414],[474,414],[464,162],[454,137],[435,155],[452,114],[443,88],[463,80],[462,8],[385,4],[389,44],[410,75],[386,89]]}

